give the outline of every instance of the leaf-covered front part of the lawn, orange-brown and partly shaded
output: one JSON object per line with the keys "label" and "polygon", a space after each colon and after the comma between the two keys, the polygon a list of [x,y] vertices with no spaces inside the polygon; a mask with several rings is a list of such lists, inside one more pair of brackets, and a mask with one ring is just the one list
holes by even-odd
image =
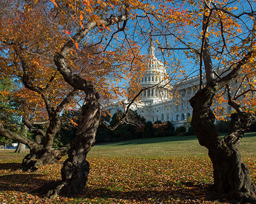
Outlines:
{"label": "leaf-covered front part of the lawn, orange-brown and partly shaded", "polygon": [[[244,159],[254,182],[255,159]],[[0,159],[0,203],[220,203],[208,200],[208,184],[213,179],[206,156],[88,160],[91,170],[86,195],[44,199],[30,192],[46,182],[60,180],[61,162],[24,173],[17,169],[21,159]]]}

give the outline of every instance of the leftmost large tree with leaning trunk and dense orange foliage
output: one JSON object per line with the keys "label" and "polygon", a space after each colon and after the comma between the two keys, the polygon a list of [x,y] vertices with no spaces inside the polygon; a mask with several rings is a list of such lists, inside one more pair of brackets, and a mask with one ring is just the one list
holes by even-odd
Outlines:
{"label": "leftmost large tree with leaning trunk and dense orange foliage", "polygon": [[13,132],[5,121],[1,121],[0,134],[26,144],[30,153],[23,160],[23,169],[36,170],[67,154],[69,146],[52,149],[52,144],[61,126],[60,113],[75,101],[79,90],[65,83],[49,60],[54,49],[52,41],[61,43],[50,9],[39,4],[17,3],[1,4],[1,77],[9,76],[16,85],[11,98],[19,104],[24,125],[42,140],[38,143]]}

